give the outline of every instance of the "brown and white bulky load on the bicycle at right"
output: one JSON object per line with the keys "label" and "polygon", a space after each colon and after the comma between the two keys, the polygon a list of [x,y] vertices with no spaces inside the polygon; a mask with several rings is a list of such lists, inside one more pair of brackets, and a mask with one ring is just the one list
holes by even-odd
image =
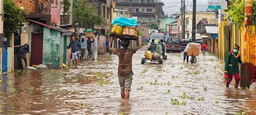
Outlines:
{"label": "brown and white bulky load on the bicycle at right", "polygon": [[187,52],[189,56],[199,56],[199,51],[201,49],[201,45],[198,43],[188,43],[184,52]]}

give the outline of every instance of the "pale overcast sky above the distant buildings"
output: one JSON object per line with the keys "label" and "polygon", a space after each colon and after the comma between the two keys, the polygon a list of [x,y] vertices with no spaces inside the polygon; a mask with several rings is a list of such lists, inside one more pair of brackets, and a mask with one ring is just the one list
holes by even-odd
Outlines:
{"label": "pale overcast sky above the distant buildings", "polygon": [[[186,10],[192,11],[193,6],[191,6],[193,0],[185,0]],[[172,13],[180,11],[181,0],[161,0],[164,2],[164,12],[168,13],[170,16]],[[207,9],[207,0],[197,0],[197,11],[206,11]]]}

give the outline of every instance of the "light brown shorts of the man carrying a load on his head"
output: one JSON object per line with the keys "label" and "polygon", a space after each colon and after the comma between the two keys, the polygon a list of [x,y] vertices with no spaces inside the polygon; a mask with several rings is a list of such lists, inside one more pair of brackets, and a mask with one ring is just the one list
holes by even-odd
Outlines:
{"label": "light brown shorts of the man carrying a load on his head", "polygon": [[120,89],[131,91],[132,74],[130,76],[127,76],[127,77],[118,76],[118,81],[119,81]]}

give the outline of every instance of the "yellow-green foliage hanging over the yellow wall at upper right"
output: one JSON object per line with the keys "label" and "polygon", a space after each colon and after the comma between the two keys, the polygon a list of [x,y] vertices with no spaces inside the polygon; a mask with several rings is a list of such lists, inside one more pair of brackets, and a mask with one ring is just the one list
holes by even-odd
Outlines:
{"label": "yellow-green foliage hanging over the yellow wall at upper right", "polygon": [[231,6],[225,9],[227,20],[237,24],[238,28],[243,26],[245,20],[245,0],[232,0]]}

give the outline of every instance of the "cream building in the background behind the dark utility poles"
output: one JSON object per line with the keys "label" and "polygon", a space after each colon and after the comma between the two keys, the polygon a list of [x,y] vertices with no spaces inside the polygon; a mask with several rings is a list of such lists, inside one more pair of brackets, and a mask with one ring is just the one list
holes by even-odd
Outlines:
{"label": "cream building in the background behind the dark utility poles", "polygon": [[[189,34],[192,33],[192,19],[193,19],[193,12],[192,11],[186,11],[185,12],[185,38],[188,38]],[[200,20],[212,20],[216,19],[216,13],[215,12],[208,12],[208,11],[200,11],[197,12],[196,15],[196,24],[199,23]],[[181,17],[178,19],[178,26],[179,26],[179,33],[181,33],[181,24],[180,21]]]}

